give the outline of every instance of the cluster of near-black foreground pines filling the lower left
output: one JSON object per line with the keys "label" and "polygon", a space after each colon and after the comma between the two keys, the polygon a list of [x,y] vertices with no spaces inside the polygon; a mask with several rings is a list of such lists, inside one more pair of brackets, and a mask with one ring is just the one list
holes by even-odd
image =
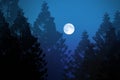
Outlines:
{"label": "cluster of near-black foreground pines filling the lower left", "polygon": [[1,12],[0,19],[1,80],[8,77],[12,80],[46,80],[45,54],[37,39],[30,34],[29,24],[23,14],[17,16],[12,33]]}

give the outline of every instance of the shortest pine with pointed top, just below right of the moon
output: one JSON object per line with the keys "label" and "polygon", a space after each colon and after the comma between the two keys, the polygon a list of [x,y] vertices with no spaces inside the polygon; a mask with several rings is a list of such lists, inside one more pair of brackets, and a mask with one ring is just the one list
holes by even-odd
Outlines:
{"label": "shortest pine with pointed top, just below right of the moon", "polygon": [[[79,42],[79,45],[77,47],[77,49],[75,50],[74,53],[74,63],[75,63],[75,67],[74,67],[74,75],[75,75],[75,80],[86,80],[87,79],[87,68],[88,66],[88,62],[90,59],[93,58],[93,47],[92,47],[92,43],[89,40],[89,36],[88,33],[86,31],[84,31],[82,33],[82,39]],[[89,60],[88,60],[89,58]]]}

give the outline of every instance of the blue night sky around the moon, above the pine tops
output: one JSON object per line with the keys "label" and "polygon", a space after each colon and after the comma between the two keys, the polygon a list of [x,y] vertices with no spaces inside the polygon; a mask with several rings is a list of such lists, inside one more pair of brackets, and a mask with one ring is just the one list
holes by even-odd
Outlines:
{"label": "blue night sky around the moon, above the pine tops", "polygon": [[[105,12],[113,19],[116,10],[120,10],[120,0],[46,0],[51,15],[55,17],[57,30],[63,33],[65,23],[73,23],[76,31],[68,36],[67,44],[71,49],[76,47],[81,33],[87,30],[90,36],[95,34]],[[33,24],[41,10],[42,0],[20,0],[28,21]]]}

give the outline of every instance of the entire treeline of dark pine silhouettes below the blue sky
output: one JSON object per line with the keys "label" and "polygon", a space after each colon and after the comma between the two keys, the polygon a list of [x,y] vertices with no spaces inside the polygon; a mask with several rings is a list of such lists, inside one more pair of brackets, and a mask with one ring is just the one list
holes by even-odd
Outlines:
{"label": "entire treeline of dark pine silhouettes below the blue sky", "polygon": [[6,80],[7,76],[13,80],[120,79],[119,11],[114,21],[105,13],[93,41],[84,31],[71,52],[62,33],[56,30],[46,2],[33,26],[24,17],[18,0],[1,0],[0,10],[1,79]]}

